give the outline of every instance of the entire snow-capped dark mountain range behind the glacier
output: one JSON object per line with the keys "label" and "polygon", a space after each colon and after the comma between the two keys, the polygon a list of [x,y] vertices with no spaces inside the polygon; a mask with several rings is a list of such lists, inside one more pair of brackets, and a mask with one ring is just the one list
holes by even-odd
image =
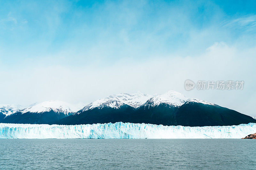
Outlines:
{"label": "entire snow-capped dark mountain range behind the glacier", "polygon": [[153,96],[141,92],[120,93],[88,105],[48,101],[25,109],[18,108],[5,106],[4,111],[0,110],[3,115],[0,122],[65,125],[129,122],[182,126],[256,123],[252,117],[235,110],[188,98],[173,90]]}

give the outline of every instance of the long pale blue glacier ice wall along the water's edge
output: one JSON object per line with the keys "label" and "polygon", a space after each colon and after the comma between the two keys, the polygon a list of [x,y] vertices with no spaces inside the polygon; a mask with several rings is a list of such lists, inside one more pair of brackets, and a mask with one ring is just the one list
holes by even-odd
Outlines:
{"label": "long pale blue glacier ice wall along the water's edge", "polygon": [[256,133],[256,123],[204,127],[122,122],[81,125],[0,123],[0,138],[244,138],[252,133]]}

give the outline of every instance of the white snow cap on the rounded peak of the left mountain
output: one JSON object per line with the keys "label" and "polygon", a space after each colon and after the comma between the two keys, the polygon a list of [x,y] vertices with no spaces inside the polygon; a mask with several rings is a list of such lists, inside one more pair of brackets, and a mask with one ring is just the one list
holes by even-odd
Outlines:
{"label": "white snow cap on the rounded peak of the left mountain", "polygon": [[75,113],[78,110],[82,109],[84,107],[83,103],[79,104],[70,104],[58,100],[50,100],[46,102],[42,102],[39,104],[36,104],[32,107],[29,107],[27,109],[21,110],[22,113],[42,113],[42,112],[48,112],[53,110],[56,113],[64,113],[68,115],[69,113]]}

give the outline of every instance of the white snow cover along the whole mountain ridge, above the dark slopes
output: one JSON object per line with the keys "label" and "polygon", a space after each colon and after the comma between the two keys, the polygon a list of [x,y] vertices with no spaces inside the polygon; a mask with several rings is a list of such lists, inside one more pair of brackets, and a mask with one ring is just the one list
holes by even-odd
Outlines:
{"label": "white snow cover along the whole mountain ridge, above the dark slopes", "polygon": [[54,111],[56,113],[64,113],[68,115],[69,113],[76,113],[83,112],[86,110],[91,110],[93,108],[103,108],[103,107],[110,107],[118,109],[123,105],[129,105],[133,108],[138,108],[142,105],[151,105],[151,106],[158,106],[161,103],[166,103],[171,106],[180,107],[186,102],[196,102],[196,103],[203,103],[203,104],[210,104],[214,105],[213,103],[209,103],[203,100],[198,100],[194,98],[188,98],[182,95],[179,92],[174,90],[170,90],[167,93],[162,95],[147,95],[141,92],[137,93],[119,93],[116,95],[110,95],[108,97],[96,100],[88,105],[85,103],[78,103],[78,104],[70,104],[58,100],[51,100],[42,103],[35,103],[30,105],[29,107],[24,107],[16,104],[12,105],[0,105],[0,112],[2,111],[3,114],[6,116],[11,115],[12,113],[16,113],[20,111],[22,114],[31,112],[31,113],[42,113],[42,112],[49,112]]}

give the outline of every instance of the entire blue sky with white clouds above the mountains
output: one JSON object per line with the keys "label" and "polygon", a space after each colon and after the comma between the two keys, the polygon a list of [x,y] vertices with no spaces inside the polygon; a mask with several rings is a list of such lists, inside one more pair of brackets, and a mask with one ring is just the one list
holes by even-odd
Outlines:
{"label": "entire blue sky with white clouds above the mountains", "polygon": [[[170,89],[256,116],[256,1],[1,1],[0,103]],[[243,80],[243,90],[184,81]]]}

